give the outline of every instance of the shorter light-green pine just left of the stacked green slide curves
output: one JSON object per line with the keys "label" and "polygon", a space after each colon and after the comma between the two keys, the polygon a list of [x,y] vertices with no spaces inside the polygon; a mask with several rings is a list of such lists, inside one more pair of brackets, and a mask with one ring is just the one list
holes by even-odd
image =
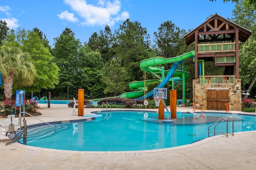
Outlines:
{"label": "shorter light-green pine just left of the stacked green slide curves", "polygon": [[104,76],[102,76],[102,81],[106,84],[104,94],[114,93],[114,96],[117,96],[118,93],[125,92],[127,79],[127,72],[116,59],[112,59],[104,66]]}

